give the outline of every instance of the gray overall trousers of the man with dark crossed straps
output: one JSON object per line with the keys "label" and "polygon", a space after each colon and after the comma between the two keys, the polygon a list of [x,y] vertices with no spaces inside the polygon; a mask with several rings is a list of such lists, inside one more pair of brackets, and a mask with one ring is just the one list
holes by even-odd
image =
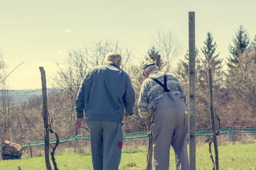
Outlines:
{"label": "gray overall trousers of the man with dark crossed straps", "polygon": [[189,169],[188,114],[185,111],[185,103],[170,92],[165,92],[154,107],[154,169],[169,169],[170,146],[174,147],[176,169]]}

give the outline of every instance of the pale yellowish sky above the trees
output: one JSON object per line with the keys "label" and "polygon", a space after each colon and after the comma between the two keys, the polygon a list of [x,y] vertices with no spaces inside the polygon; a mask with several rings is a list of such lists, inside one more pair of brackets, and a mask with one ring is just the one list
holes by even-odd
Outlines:
{"label": "pale yellowish sky above the trees", "polygon": [[142,58],[159,30],[176,36],[185,55],[188,49],[188,12],[195,12],[196,47],[212,33],[216,52],[224,60],[228,46],[242,25],[256,35],[256,1],[231,0],[0,0],[0,54],[11,90],[41,89],[44,67],[47,87],[68,50],[100,40],[118,40]]}

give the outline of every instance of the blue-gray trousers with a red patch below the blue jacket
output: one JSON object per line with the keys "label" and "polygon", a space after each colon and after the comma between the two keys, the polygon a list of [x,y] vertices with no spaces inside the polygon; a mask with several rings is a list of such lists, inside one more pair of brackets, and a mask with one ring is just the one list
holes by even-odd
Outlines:
{"label": "blue-gray trousers with a red patch below the blue jacket", "polygon": [[94,170],[117,170],[122,154],[122,125],[117,122],[87,120],[90,130]]}

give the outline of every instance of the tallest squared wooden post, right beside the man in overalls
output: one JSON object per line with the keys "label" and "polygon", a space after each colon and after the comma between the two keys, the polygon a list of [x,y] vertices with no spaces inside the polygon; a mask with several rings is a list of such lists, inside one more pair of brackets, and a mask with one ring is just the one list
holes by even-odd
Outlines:
{"label": "tallest squared wooden post, right beside the man in overalls", "polygon": [[196,66],[195,66],[195,12],[188,12],[189,42],[189,92],[188,92],[188,128],[189,128],[189,164],[196,170]]}

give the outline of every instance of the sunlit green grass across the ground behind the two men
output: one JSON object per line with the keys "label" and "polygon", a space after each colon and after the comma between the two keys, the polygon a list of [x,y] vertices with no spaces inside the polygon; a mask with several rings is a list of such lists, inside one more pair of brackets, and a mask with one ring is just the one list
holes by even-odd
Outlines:
{"label": "sunlit green grass across the ground behind the two men", "polygon": [[[143,150],[146,153],[146,150]],[[212,152],[214,148],[212,147]],[[218,147],[220,169],[254,169],[256,170],[256,143],[250,145],[227,145]],[[174,151],[170,153],[170,169],[175,168]],[[65,154],[57,155],[56,162],[60,170],[92,169],[91,155],[89,154]],[[32,159],[18,159],[0,161],[1,170],[14,170],[21,166],[21,170],[46,169],[44,157]],[[53,166],[52,166],[53,167]],[[139,150],[125,150],[122,152],[120,170],[138,169],[146,167],[146,155]],[[208,147],[196,148],[196,169],[212,169]]]}

